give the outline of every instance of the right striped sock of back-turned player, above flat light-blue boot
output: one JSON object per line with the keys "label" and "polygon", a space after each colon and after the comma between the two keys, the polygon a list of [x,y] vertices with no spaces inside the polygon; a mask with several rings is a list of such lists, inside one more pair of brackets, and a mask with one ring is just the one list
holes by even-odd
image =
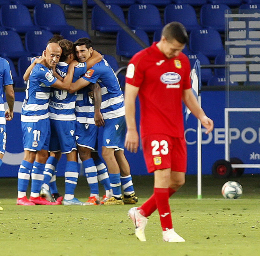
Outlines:
{"label": "right striped sock of back-turned player, above flat light-blue boot", "polygon": [[65,170],[65,195],[74,195],[75,188],[77,186],[79,172],[78,163],[74,161],[68,161]]}

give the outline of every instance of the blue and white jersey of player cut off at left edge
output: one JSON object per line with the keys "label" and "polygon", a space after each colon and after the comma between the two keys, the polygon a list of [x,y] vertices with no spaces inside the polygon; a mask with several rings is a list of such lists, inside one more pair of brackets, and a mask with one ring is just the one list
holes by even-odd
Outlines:
{"label": "blue and white jersey of player cut off at left edge", "polygon": [[0,124],[5,125],[5,108],[3,101],[3,86],[13,84],[10,65],[6,59],[0,57]]}

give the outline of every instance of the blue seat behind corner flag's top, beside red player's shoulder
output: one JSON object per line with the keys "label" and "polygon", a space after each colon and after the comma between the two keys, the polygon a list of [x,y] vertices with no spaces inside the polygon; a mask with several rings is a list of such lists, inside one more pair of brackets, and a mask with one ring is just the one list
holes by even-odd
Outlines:
{"label": "blue seat behind corner flag's top, beside red player's shoulder", "polygon": [[[201,53],[197,53],[197,54],[187,54],[189,60],[190,60],[190,66],[191,68],[194,66],[196,60],[198,59],[200,61],[200,65],[210,65],[210,61],[207,58],[207,56],[201,54]],[[201,82],[203,84],[207,84],[209,78],[211,78],[212,76],[212,71],[210,68],[202,68],[200,70],[200,74],[201,74]]]}

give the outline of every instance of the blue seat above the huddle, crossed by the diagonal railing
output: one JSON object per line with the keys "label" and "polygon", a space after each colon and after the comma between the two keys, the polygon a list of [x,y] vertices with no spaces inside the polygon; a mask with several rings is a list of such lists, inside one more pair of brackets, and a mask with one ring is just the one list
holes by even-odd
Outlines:
{"label": "blue seat above the huddle, crossed by the diagonal railing", "polygon": [[[122,22],[125,23],[125,16],[119,5],[106,5]],[[103,11],[98,5],[92,9],[91,28],[100,32],[117,32],[122,29],[110,16]]]}

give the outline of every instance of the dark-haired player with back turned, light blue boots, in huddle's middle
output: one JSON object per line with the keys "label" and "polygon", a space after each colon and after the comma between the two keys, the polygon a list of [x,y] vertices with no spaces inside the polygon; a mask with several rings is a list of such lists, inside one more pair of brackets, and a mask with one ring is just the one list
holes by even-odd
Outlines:
{"label": "dark-haired player with back turned, light blue boots, in huddle's middle", "polygon": [[[75,59],[73,42],[62,39],[58,42],[62,48],[60,61],[57,63],[55,71],[64,78],[68,71],[68,65]],[[95,51],[88,63],[79,63],[74,70],[73,81],[86,73],[87,69],[102,59],[101,54]],[[44,182],[41,189],[41,195],[47,195],[48,199],[52,197],[49,192],[49,185],[54,199],[59,197],[55,182],[55,169],[61,154],[66,154],[67,164],[65,169],[65,195],[64,205],[83,205],[74,197],[75,187],[77,185],[78,159],[77,146],[75,138],[76,116],[75,101],[77,93],[69,93],[64,90],[52,89],[49,100],[49,118],[51,123],[51,156],[47,160],[44,170]],[[100,114],[101,115],[101,114]],[[58,198],[55,198],[58,197]]]}

